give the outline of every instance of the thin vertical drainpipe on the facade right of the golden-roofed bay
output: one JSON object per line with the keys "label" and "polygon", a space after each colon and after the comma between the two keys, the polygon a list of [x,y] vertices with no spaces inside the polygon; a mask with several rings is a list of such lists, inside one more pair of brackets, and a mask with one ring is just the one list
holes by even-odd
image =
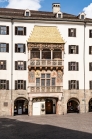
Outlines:
{"label": "thin vertical drainpipe on the facade right of the golden-roofed bay", "polygon": [[86,113],[86,91],[85,91],[85,28],[86,28],[86,22],[84,22],[84,111]]}

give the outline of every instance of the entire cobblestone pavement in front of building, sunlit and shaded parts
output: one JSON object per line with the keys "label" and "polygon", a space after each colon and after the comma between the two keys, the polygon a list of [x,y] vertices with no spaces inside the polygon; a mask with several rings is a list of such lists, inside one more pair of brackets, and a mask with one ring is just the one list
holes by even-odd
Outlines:
{"label": "entire cobblestone pavement in front of building, sunlit and shaded parts", "polygon": [[92,113],[0,117],[0,139],[92,139]]}

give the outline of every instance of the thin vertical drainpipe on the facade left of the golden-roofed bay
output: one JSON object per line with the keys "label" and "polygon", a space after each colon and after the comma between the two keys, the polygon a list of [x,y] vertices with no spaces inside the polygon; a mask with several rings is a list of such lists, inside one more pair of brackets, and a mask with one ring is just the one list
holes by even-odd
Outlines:
{"label": "thin vertical drainpipe on the facade left of the golden-roofed bay", "polygon": [[13,18],[11,18],[11,116],[13,116],[12,93],[13,93]]}

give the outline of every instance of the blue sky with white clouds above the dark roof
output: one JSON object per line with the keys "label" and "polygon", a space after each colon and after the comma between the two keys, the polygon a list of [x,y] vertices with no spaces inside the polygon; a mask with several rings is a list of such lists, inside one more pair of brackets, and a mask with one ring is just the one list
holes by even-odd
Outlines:
{"label": "blue sky with white clouds above the dark roof", "polygon": [[60,3],[62,12],[73,15],[85,12],[86,17],[92,18],[92,0],[0,0],[0,7],[52,12],[52,3]]}

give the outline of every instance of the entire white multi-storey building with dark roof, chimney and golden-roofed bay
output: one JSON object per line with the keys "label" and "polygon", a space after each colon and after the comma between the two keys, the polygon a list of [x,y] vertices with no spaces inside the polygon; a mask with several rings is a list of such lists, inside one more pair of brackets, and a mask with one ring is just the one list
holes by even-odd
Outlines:
{"label": "entire white multi-storey building with dark roof, chimney and golden-roofed bay", "polygon": [[92,111],[92,19],[0,8],[0,115]]}

